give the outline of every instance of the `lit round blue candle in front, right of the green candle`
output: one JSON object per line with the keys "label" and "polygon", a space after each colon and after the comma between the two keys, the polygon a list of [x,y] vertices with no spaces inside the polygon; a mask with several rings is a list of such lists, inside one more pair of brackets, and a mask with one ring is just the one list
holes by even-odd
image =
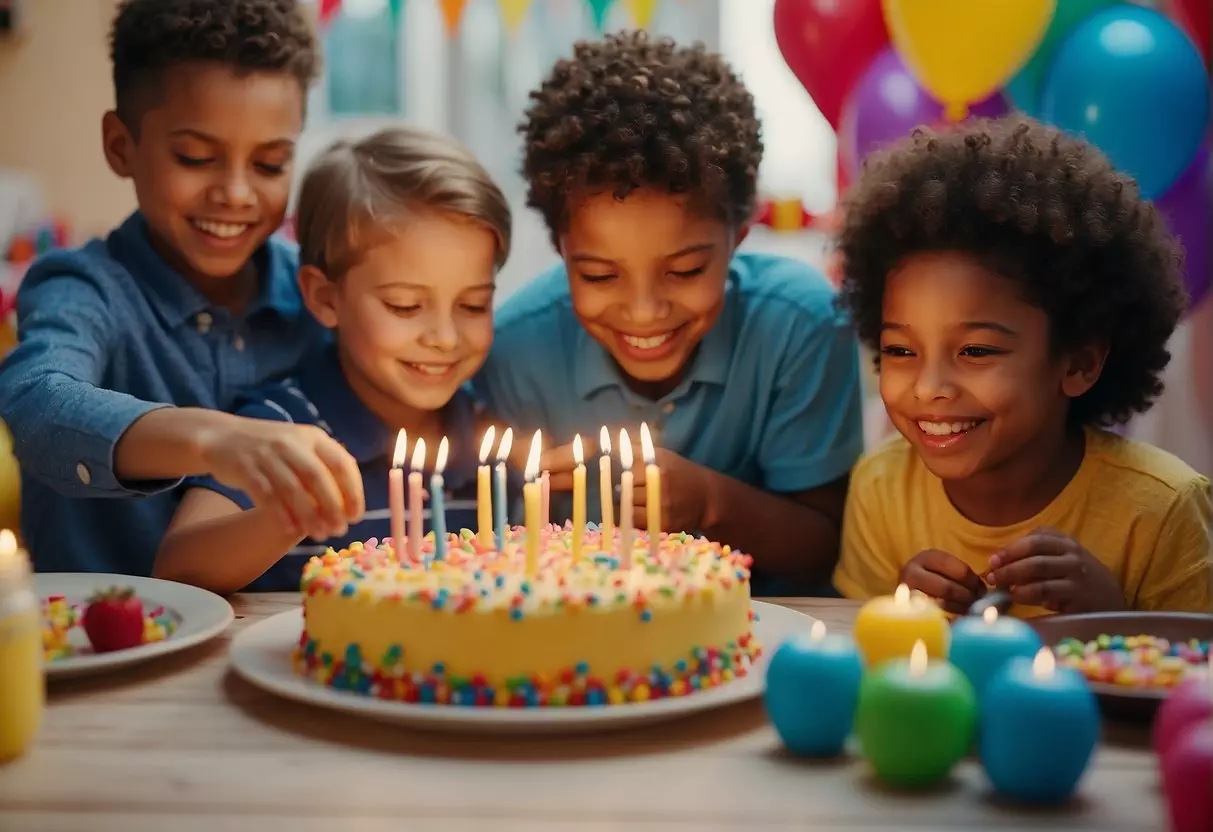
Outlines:
{"label": "lit round blue candle in front, right of the green candle", "polygon": [[1031,804],[1063,803],[1099,741],[1099,706],[1077,671],[1052,651],[1015,657],[986,684],[979,746],[990,782]]}

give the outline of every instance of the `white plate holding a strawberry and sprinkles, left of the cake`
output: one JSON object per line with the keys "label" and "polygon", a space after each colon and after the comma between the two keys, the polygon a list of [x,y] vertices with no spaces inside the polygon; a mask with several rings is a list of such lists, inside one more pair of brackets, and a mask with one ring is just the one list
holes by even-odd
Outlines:
{"label": "white plate holding a strawberry and sprinkles, left of the cake", "polygon": [[[84,604],[95,592],[115,586],[135,589],[143,600],[144,612],[164,606],[165,612],[176,621],[177,628],[161,642],[152,642],[129,650],[84,653],[55,659],[46,662],[46,678],[63,679],[102,673],[184,650],[215,638],[232,623],[234,617],[232,605],[226,600],[188,583],[91,572],[44,572],[34,576],[34,592],[39,603],[50,595],[63,595],[72,604]],[[89,639],[84,631],[76,627],[72,631],[70,643],[85,648]]]}

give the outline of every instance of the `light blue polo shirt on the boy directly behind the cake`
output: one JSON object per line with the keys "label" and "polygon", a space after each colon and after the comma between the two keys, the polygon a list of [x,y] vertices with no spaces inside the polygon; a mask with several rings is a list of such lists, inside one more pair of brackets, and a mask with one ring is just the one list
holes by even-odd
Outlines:
{"label": "light blue polo shirt on the boy directly behind the cake", "polygon": [[[518,435],[542,428],[545,444],[576,433],[597,443],[606,424],[617,444],[620,427],[634,437],[644,421],[657,445],[773,492],[845,475],[864,446],[858,343],[828,281],[787,257],[734,256],[719,320],[656,401],[633,393],[577,323],[563,266],[501,304],[474,383]],[[597,522],[597,465],[587,465],[587,519]],[[614,471],[617,484],[617,449]],[[551,511],[563,522],[566,495],[553,495]]]}

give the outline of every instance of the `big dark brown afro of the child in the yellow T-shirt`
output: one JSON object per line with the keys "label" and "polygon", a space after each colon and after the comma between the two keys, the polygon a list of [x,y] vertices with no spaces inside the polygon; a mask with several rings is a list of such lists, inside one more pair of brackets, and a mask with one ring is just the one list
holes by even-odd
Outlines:
{"label": "big dark brown afro of the child in the yellow T-shirt", "polygon": [[1023,116],[919,129],[870,158],[843,211],[841,301],[873,349],[888,274],[907,255],[959,251],[1020,285],[1048,314],[1054,349],[1109,347],[1071,421],[1123,423],[1162,392],[1183,250],[1083,139]]}

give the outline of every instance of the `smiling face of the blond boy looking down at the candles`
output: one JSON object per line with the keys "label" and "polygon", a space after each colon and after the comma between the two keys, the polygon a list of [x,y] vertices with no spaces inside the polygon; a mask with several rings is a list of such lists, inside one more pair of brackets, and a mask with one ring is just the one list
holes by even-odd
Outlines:
{"label": "smiling face of the blond boy looking down at the candles", "polygon": [[361,252],[337,280],[301,270],[308,307],[337,330],[351,387],[385,422],[440,410],[484,364],[496,256],[492,232],[429,211]]}

